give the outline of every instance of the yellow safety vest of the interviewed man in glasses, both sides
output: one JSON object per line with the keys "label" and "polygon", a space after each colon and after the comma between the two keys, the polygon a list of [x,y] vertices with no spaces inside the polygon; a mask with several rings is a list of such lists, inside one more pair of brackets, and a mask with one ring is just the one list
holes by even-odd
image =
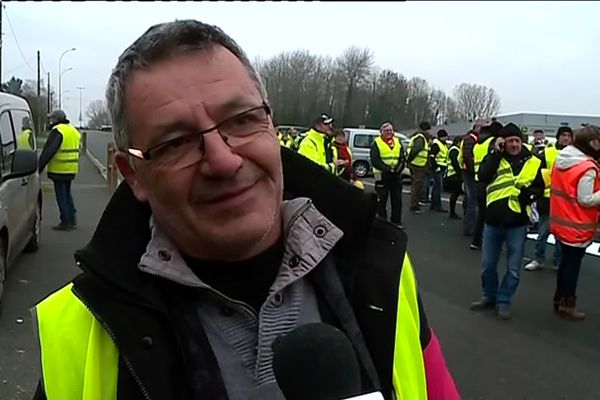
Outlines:
{"label": "yellow safety vest of the interviewed man in glasses, both sides", "polygon": [[[42,381],[48,400],[115,400],[119,350],[73,294],[72,283],[36,306]],[[404,256],[396,312],[392,379],[396,399],[427,400],[417,285]]]}

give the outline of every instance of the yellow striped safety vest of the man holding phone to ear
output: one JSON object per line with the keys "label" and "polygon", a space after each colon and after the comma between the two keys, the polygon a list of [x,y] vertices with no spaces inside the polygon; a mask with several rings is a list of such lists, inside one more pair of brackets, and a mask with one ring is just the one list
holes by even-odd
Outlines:
{"label": "yellow striped safety vest of the man holding phone to ear", "polygon": [[[498,166],[496,179],[486,189],[487,205],[508,198],[508,207],[515,213],[520,214],[519,194],[521,189],[531,186],[541,164],[542,161],[539,158],[532,156],[525,162],[519,175],[514,176],[509,162],[502,158]],[[527,214],[530,214],[530,212],[530,207],[528,207]]]}

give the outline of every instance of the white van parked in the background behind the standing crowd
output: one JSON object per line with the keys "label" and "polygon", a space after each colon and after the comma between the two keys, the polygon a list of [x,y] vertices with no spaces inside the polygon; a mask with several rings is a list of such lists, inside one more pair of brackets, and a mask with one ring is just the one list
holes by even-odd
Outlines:
{"label": "white van parked in the background behind the standing crowd", "polygon": [[[371,145],[375,138],[379,136],[379,131],[376,129],[357,129],[344,128],[346,133],[346,141],[352,151],[352,165],[357,178],[364,178],[373,174],[373,166],[371,165]],[[396,133],[396,137],[402,143],[404,151],[408,149],[408,137],[402,133]],[[404,178],[410,178],[410,171],[404,168],[402,171]]]}

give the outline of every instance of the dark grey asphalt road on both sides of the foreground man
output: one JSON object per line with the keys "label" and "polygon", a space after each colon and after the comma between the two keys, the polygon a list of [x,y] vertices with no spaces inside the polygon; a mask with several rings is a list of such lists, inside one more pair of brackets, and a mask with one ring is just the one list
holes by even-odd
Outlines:
{"label": "dark grey asphalt road on both sides of the foreground man", "polygon": [[[102,140],[110,140],[101,135],[88,136],[90,151],[100,152]],[[106,159],[102,154],[99,158]],[[80,229],[48,229],[56,221],[56,206],[46,191],[42,248],[22,256],[9,275],[6,309],[0,317],[0,399],[30,397],[38,364],[27,310],[77,272],[72,253],[91,237],[108,200],[99,175],[86,165],[86,176],[76,182]],[[410,215],[408,198],[404,200],[403,222],[423,303],[463,398],[599,399],[595,379],[600,371],[600,258],[584,258],[579,304],[588,314],[585,322],[567,322],[553,314],[555,274],[549,269],[523,272],[513,319],[500,321],[492,313],[469,310],[469,303],[480,296],[481,253],[468,249],[461,222],[438,213]],[[526,254],[533,254],[533,241]]]}

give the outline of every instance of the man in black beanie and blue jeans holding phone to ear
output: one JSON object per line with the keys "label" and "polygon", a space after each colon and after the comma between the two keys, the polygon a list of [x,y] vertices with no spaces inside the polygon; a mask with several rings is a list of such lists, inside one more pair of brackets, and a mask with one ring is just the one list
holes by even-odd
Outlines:
{"label": "man in black beanie and blue jeans holding phone to ear", "polygon": [[[506,320],[511,317],[511,300],[521,276],[529,208],[536,197],[543,195],[544,181],[541,161],[523,146],[519,127],[509,123],[499,136],[479,170],[479,180],[487,186],[481,262],[483,298],[473,302],[471,309],[496,308],[498,317]],[[498,286],[498,261],[504,243],[507,270]]]}

